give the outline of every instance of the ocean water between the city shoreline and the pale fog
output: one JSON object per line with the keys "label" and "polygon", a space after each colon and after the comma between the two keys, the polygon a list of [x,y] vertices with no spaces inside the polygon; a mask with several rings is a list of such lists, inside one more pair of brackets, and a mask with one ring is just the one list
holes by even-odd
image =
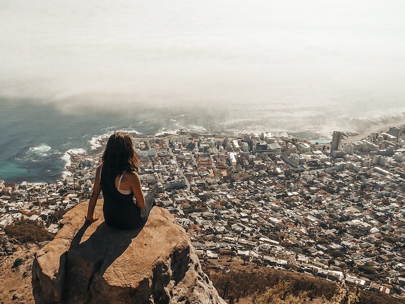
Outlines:
{"label": "ocean water between the city shoreline and the pale fog", "polygon": [[[293,135],[305,139],[331,138],[333,130],[361,132],[375,125],[404,117],[395,111],[386,117],[350,118],[334,116],[326,107],[291,110],[277,107],[244,105],[217,106],[216,111],[189,107],[141,107],[131,110],[77,107],[61,110],[53,103],[0,99],[0,179],[10,182],[52,182],[66,174],[70,154],[86,154],[100,146],[99,139],[115,130],[141,135],[239,134],[270,131],[275,135]],[[134,110],[135,109],[135,110]],[[309,115],[310,112],[310,115]]]}

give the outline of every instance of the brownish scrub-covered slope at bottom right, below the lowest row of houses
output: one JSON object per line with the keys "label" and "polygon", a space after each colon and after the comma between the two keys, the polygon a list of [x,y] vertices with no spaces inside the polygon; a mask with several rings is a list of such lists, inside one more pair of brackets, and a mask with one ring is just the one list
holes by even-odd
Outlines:
{"label": "brownish scrub-covered slope at bottom right, below the lowest row of houses", "polygon": [[323,298],[322,304],[402,303],[382,292],[358,290],[356,287],[289,272],[231,270],[211,273],[210,279],[219,295],[230,304],[246,297],[251,297],[254,304],[302,303],[304,297],[309,300]]}

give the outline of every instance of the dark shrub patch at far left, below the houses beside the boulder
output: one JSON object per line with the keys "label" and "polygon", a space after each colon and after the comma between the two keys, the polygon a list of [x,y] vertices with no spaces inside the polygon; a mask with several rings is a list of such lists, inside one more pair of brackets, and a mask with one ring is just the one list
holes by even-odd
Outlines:
{"label": "dark shrub patch at far left, below the houses beside the boulder", "polygon": [[39,243],[53,239],[53,235],[44,227],[29,219],[7,226],[4,231],[10,238],[15,238],[20,243]]}

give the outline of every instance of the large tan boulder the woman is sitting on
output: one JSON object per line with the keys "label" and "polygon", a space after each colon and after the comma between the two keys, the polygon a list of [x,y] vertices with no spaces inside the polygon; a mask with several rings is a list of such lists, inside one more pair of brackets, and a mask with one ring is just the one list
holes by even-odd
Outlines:
{"label": "large tan boulder the woman is sitting on", "polygon": [[63,217],[55,239],[36,254],[32,289],[37,303],[225,303],[201,270],[184,229],[153,207],[143,229],[122,231],[85,222],[88,203]]}

